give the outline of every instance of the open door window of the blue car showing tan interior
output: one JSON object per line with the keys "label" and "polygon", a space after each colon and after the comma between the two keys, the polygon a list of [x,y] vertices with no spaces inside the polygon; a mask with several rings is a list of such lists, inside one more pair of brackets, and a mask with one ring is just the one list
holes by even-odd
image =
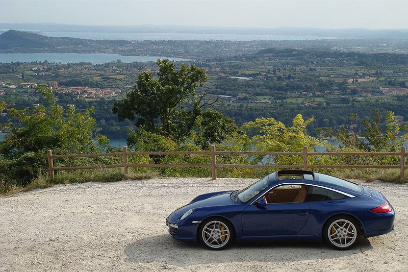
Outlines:
{"label": "open door window of the blue car showing tan interior", "polygon": [[269,190],[264,197],[267,204],[304,202],[308,186],[285,184]]}

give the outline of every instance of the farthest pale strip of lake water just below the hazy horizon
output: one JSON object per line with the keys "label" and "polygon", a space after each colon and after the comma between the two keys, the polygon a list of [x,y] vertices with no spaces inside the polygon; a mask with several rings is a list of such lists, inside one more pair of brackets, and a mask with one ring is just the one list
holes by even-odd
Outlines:
{"label": "farthest pale strip of lake water just below the hazy horizon", "polygon": [[224,40],[224,41],[263,41],[263,40],[321,40],[336,37],[256,35],[256,34],[207,34],[207,33],[126,33],[126,32],[40,32],[49,37],[72,37],[91,40]]}

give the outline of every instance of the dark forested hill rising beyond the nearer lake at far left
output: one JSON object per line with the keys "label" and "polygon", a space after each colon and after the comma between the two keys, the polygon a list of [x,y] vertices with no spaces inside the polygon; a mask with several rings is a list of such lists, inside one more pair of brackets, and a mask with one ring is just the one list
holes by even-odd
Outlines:
{"label": "dark forested hill rising beyond the nearer lake at far left", "polygon": [[70,37],[48,37],[30,32],[9,30],[0,35],[0,50],[30,50],[35,48],[58,48],[69,46],[89,46],[98,43],[108,43],[111,46],[130,43],[125,40],[102,40],[94,41]]}

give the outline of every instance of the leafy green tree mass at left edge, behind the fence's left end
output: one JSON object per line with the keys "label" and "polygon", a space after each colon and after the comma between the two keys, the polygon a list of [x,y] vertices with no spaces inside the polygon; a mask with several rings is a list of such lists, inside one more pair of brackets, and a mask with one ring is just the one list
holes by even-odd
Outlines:
{"label": "leafy green tree mass at left edge, behind the fence's left end", "polygon": [[98,136],[96,140],[92,137],[95,126],[95,119],[90,116],[92,108],[84,112],[75,112],[73,107],[63,109],[48,88],[37,90],[46,106],[17,110],[5,102],[0,103],[0,112],[6,111],[10,116],[9,121],[2,124],[10,133],[0,142],[0,190],[5,184],[27,185],[46,169],[47,150],[57,154],[81,154],[110,148],[105,136]]}

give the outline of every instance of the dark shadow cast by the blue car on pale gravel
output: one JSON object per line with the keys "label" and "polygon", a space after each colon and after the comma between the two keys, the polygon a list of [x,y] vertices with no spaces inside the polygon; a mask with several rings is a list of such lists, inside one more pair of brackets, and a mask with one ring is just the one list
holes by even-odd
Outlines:
{"label": "dark shadow cast by the blue car on pale gravel", "polygon": [[228,262],[290,262],[316,259],[336,259],[354,254],[366,254],[372,246],[368,239],[361,239],[358,246],[347,251],[337,251],[321,243],[286,242],[237,242],[223,251],[211,251],[196,242],[184,242],[168,234],[146,237],[126,246],[126,262],[163,262],[186,267],[197,264]]}

